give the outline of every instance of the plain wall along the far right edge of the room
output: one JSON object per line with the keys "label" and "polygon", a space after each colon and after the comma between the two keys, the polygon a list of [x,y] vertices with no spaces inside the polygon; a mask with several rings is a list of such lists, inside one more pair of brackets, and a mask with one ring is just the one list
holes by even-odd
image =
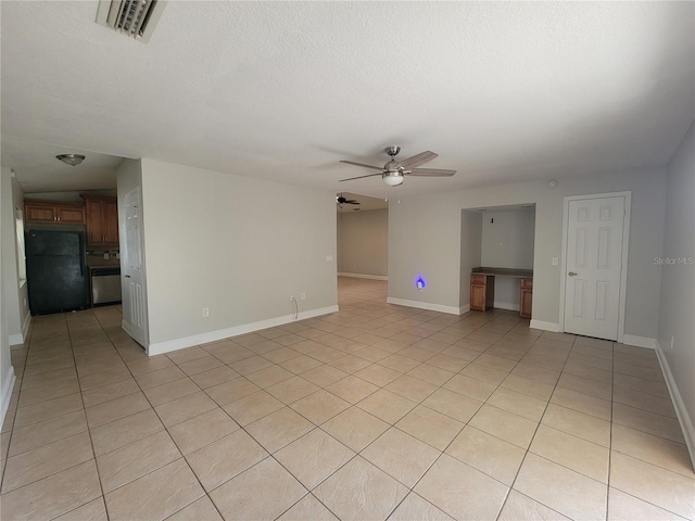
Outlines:
{"label": "plain wall along the far right edge of the room", "polygon": [[[686,415],[681,415],[695,462],[695,124],[668,166],[664,250],[659,258],[685,258],[661,267],[659,348]],[[668,262],[667,262],[668,263]],[[671,350],[671,339],[673,348]],[[677,408],[678,408],[677,403]]]}

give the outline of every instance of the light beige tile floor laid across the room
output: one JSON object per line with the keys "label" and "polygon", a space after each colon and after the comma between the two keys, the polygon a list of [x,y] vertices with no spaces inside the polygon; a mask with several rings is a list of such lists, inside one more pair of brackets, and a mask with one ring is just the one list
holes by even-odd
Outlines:
{"label": "light beige tile floor laid across the room", "polygon": [[384,304],[148,358],[118,307],[14,348],[3,520],[694,519],[654,352]]}

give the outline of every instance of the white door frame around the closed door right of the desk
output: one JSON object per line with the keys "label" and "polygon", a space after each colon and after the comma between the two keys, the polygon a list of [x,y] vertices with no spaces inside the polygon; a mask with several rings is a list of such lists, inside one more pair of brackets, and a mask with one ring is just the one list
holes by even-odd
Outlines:
{"label": "white door frame around the closed door right of the desk", "polygon": [[628,250],[630,242],[630,208],[632,192],[589,193],[585,195],[567,195],[563,208],[563,254],[560,268],[560,321],[559,331],[565,331],[565,284],[567,280],[567,228],[569,227],[569,203],[586,199],[626,198],[626,215],[622,227],[622,255],[620,266],[620,304],[618,307],[618,342],[622,343],[626,333],[626,289],[628,284]]}

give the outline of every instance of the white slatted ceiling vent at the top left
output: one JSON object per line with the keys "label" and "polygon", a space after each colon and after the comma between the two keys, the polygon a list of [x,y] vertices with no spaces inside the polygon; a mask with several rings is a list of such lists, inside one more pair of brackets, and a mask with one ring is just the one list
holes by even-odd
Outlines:
{"label": "white slatted ceiling vent at the top left", "polygon": [[100,0],[97,23],[147,42],[165,5],[165,0]]}

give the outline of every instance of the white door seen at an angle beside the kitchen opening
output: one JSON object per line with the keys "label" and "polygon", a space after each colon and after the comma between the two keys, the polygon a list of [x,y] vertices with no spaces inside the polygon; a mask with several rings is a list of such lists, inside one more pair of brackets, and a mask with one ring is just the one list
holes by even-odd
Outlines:
{"label": "white door seen at an angle beside the kitchen opening", "polygon": [[140,213],[140,188],[129,191],[125,199],[126,240],[125,240],[125,283],[123,291],[123,321],[132,339],[148,346],[147,295],[144,291],[144,270],[142,262],[142,232]]}

